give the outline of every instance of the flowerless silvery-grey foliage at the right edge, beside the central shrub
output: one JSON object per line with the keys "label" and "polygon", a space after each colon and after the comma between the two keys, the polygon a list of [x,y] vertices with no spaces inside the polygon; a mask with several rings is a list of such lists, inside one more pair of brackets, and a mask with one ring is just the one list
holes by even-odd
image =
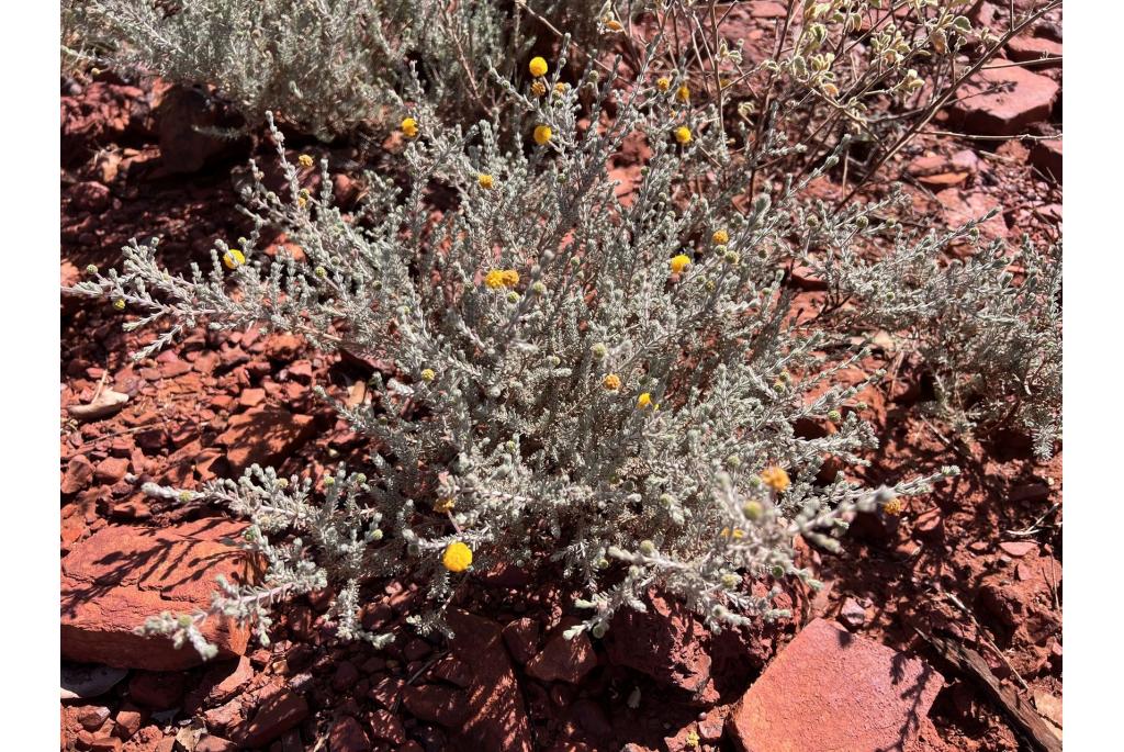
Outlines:
{"label": "flowerless silvery-grey foliage at the right edge, beside the central shrub", "polygon": [[[961,433],[1021,425],[1045,460],[1061,428],[1061,246],[1040,248],[1024,236],[1015,250],[994,241],[963,260],[942,255],[954,242],[979,244],[979,226],[996,211],[945,233],[898,226],[892,245],[862,254],[821,206],[819,251],[803,259],[827,284],[827,318],[892,333],[919,357],[937,415]],[[853,232],[885,234],[885,226]]]}

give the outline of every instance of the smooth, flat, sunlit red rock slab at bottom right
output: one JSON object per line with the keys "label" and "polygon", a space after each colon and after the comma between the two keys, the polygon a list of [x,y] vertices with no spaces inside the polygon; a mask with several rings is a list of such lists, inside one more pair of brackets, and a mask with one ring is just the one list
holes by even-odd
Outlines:
{"label": "smooth, flat, sunlit red rock slab at bottom right", "polygon": [[734,707],[744,752],[908,750],[944,679],[916,658],[816,619]]}

